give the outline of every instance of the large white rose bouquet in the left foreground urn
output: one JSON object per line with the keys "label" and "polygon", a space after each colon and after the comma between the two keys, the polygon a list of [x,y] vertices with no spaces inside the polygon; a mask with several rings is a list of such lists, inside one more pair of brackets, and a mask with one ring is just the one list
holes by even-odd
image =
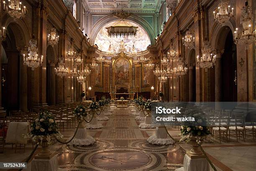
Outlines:
{"label": "large white rose bouquet in the left foreground urn", "polygon": [[32,138],[33,141],[42,143],[43,136],[46,136],[48,144],[52,144],[54,138],[63,138],[63,135],[58,131],[54,115],[48,111],[42,112],[31,123],[31,132],[25,135],[25,138]]}

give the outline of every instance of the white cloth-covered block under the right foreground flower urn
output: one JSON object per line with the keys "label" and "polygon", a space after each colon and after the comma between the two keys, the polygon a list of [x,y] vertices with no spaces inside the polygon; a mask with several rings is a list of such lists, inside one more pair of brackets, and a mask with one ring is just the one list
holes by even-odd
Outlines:
{"label": "white cloth-covered block under the right foreground flower urn", "polygon": [[210,171],[206,158],[190,158],[187,154],[184,157],[184,167],[175,171]]}

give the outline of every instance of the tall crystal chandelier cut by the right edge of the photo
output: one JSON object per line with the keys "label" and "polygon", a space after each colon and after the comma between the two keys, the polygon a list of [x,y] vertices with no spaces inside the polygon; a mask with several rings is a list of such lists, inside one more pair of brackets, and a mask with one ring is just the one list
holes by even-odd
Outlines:
{"label": "tall crystal chandelier cut by the right edge of the photo", "polygon": [[241,43],[246,45],[246,49],[248,49],[248,45],[252,44],[256,40],[256,30],[251,27],[252,14],[251,7],[246,2],[246,6],[241,10],[241,24],[243,25],[243,31],[240,36],[238,36],[238,28],[234,32],[235,39],[234,42],[236,44]]}

